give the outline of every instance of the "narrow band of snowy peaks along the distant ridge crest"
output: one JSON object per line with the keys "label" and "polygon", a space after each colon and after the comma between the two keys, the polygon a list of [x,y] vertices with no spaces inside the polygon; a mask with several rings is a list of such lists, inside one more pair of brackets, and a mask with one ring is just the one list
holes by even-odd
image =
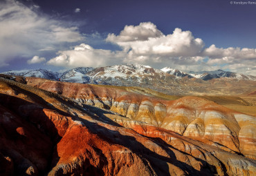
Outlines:
{"label": "narrow band of snowy peaks along the distant ridge crest", "polygon": [[[103,71],[104,70],[104,71]],[[104,72],[104,73],[103,73]],[[37,69],[37,70],[12,70],[8,72],[1,72],[5,75],[17,75],[23,77],[41,77],[45,79],[53,79],[62,81],[70,81],[77,83],[97,83],[101,81],[104,77],[115,78],[115,77],[136,77],[137,79],[143,75],[164,75],[163,72],[166,72],[169,75],[174,75],[176,78],[188,77],[188,78],[198,78],[203,79],[204,81],[227,77],[230,79],[244,79],[244,80],[256,80],[255,76],[244,75],[236,72],[228,72],[224,70],[214,70],[214,71],[201,71],[201,72],[183,72],[181,70],[165,67],[161,70],[152,68],[150,66],[142,66],[138,64],[124,64],[116,66],[106,66],[100,68],[92,67],[77,67],[65,72],[53,72],[51,70]],[[99,80],[96,80],[99,79]],[[127,78],[129,79],[129,78]]]}

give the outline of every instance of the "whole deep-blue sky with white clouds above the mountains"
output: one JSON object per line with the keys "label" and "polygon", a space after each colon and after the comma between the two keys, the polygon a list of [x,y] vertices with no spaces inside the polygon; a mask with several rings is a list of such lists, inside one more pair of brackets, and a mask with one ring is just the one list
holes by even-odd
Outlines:
{"label": "whole deep-blue sky with white clouds above the mountains", "polygon": [[138,63],[256,75],[255,17],[255,0],[0,0],[0,72]]}

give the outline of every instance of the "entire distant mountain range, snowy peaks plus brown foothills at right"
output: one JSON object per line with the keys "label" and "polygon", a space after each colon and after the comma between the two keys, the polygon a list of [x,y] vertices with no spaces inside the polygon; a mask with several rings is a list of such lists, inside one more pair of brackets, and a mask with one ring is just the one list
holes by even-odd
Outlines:
{"label": "entire distant mountain range, snowy peaks plus brown foothills at right", "polygon": [[[216,70],[210,72],[183,72],[170,67],[158,70],[150,66],[124,64],[100,68],[78,67],[62,72],[51,70],[19,70],[2,72],[4,75],[39,77],[57,81],[138,86],[172,95],[201,93],[237,95],[253,92],[255,76]],[[246,85],[246,86],[243,86]]]}

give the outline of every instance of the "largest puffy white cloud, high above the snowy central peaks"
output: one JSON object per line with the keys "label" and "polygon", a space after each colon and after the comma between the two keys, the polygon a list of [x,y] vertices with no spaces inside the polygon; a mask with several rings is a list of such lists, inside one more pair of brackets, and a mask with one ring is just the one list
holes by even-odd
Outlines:
{"label": "largest puffy white cloud, high above the snowy central peaks", "polygon": [[201,52],[204,43],[194,39],[192,32],[176,28],[170,35],[163,33],[153,23],[125,26],[120,35],[109,34],[106,41],[116,43],[134,55],[168,55],[169,57],[194,56]]}

